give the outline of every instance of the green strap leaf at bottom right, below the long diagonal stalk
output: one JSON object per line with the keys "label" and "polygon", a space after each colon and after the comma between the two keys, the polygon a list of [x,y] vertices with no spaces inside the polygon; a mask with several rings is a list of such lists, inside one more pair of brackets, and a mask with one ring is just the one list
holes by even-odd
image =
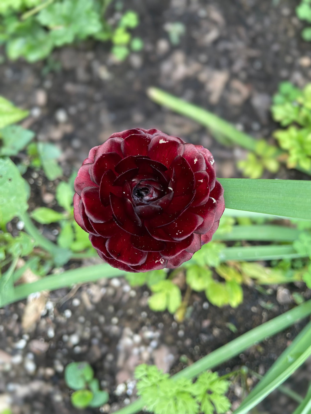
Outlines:
{"label": "green strap leaf at bottom right, below the long diagonal stalk", "polygon": [[264,378],[250,392],[234,414],[247,414],[275,388],[282,384],[311,355],[311,322],[272,365]]}

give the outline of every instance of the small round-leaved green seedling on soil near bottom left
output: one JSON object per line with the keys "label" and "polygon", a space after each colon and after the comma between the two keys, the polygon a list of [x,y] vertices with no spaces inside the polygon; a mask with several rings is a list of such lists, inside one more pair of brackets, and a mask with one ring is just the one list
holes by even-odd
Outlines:
{"label": "small round-leaved green seedling on soil near bottom left", "polygon": [[87,362],[72,362],[65,368],[65,381],[71,394],[71,403],[76,408],[100,407],[109,400],[109,394],[100,390],[92,367]]}

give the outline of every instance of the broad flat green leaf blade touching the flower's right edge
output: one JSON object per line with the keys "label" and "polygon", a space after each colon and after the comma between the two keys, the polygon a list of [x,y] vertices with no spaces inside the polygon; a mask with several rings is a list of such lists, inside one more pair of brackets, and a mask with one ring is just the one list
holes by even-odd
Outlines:
{"label": "broad flat green leaf blade touching the flower's right edge", "polygon": [[311,220],[311,181],[219,178],[227,208]]}

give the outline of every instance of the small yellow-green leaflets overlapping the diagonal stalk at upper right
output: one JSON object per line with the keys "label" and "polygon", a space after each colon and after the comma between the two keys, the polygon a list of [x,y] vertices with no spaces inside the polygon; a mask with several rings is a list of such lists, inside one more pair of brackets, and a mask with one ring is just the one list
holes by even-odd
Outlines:
{"label": "small yellow-green leaflets overlapping the diagonal stalk at upper right", "polygon": [[260,178],[265,169],[276,173],[279,170],[276,156],[277,148],[260,140],[256,143],[255,152],[249,152],[245,160],[238,161],[238,168],[243,171],[243,176],[248,178]]}

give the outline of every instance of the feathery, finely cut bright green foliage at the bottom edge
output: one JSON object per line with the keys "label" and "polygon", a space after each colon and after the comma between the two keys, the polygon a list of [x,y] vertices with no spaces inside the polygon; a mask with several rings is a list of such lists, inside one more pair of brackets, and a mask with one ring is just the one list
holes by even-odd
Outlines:
{"label": "feathery, finely cut bright green foliage at the bottom edge", "polygon": [[156,366],[138,365],[135,370],[137,394],[148,412],[155,414],[223,414],[231,404],[225,393],[228,381],[217,373],[201,374],[195,383],[185,378],[170,379]]}

